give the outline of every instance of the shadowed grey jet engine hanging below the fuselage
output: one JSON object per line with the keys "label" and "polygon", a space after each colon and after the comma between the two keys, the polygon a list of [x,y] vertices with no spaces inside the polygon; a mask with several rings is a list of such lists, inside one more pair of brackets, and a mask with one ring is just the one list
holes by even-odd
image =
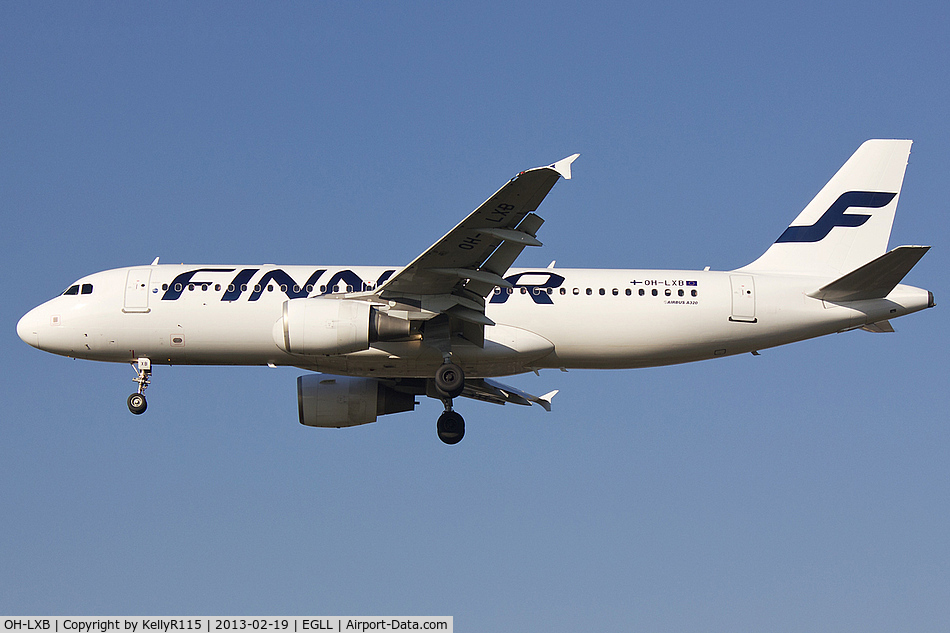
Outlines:
{"label": "shadowed grey jet engine hanging below the fuselage", "polygon": [[415,409],[412,394],[372,378],[305,374],[297,378],[297,407],[305,426],[340,428],[369,424],[376,416]]}

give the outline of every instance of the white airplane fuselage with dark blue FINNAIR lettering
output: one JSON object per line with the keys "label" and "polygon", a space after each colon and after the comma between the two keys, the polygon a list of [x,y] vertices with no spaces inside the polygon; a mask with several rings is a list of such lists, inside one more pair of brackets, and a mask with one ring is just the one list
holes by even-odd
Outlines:
{"label": "white airplane fuselage with dark blue FINNAIR lettering", "polygon": [[[333,374],[428,377],[440,353],[420,340],[338,355],[279,344],[284,302],[372,291],[396,268],[152,265],[95,273],[31,310],[21,338],[64,356],[168,365],[292,365]],[[321,272],[322,271],[322,272]],[[510,269],[485,345],[453,341],[469,376],[540,368],[629,368],[746,353],[845,331],[932,304],[898,285],[884,299],[808,296],[830,278],[742,272]],[[312,287],[310,287],[312,286]],[[88,292],[86,292],[88,290]]]}

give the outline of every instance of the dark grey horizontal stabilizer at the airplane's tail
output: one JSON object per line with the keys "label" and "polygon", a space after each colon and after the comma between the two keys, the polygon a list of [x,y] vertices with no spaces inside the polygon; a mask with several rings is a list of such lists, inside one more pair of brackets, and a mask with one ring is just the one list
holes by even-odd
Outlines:
{"label": "dark grey horizontal stabilizer at the airplane's tail", "polygon": [[928,250],[929,246],[898,246],[808,296],[833,302],[883,299]]}

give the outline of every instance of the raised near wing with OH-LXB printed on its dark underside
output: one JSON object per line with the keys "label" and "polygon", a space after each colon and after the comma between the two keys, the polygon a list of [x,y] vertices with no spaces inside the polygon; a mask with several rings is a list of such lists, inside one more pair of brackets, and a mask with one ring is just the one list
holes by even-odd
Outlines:
{"label": "raised near wing with OH-LXB printed on its dark underside", "polygon": [[[535,236],[544,220],[534,211],[558,179],[570,179],[571,163],[578,156],[512,178],[445,237],[393,275],[378,289],[380,298],[455,295],[469,301],[448,304],[481,312],[482,318],[457,312],[489,324],[484,318],[484,301],[478,302],[477,298],[484,299],[495,286],[509,287],[502,275],[525,246],[541,246]],[[449,309],[451,306],[437,311]]]}

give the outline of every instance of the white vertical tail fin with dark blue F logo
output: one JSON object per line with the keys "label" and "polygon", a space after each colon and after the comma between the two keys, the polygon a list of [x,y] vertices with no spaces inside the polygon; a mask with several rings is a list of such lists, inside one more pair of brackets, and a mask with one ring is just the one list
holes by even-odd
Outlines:
{"label": "white vertical tail fin with dark blue F logo", "polygon": [[865,141],[749,272],[839,277],[883,255],[912,141]]}

